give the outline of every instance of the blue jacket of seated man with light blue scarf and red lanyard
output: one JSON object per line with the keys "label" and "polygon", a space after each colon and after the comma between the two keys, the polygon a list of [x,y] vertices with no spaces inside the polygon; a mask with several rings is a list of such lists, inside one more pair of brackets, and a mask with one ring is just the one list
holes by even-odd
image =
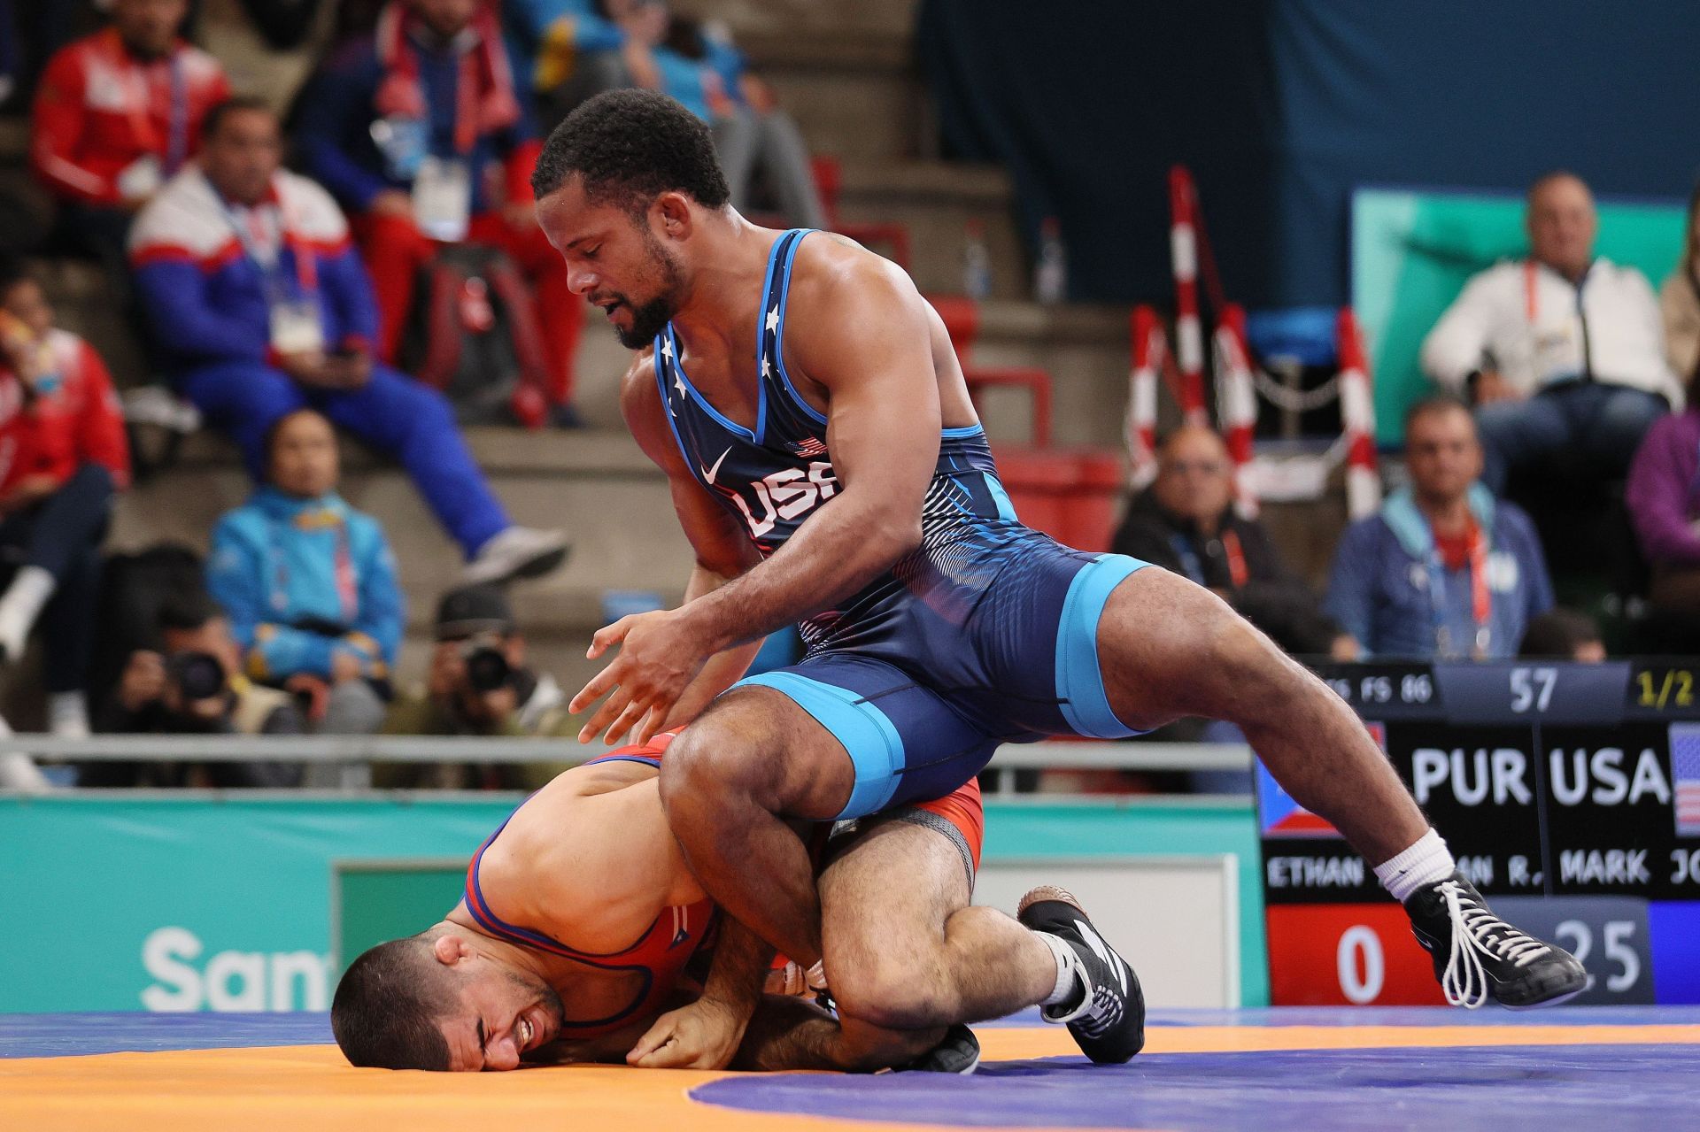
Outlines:
{"label": "blue jacket of seated man with light blue scarf and red lanyard", "polygon": [[[1530,619],[1552,608],[1552,581],[1535,525],[1516,505],[1494,500],[1482,484],[1469,495],[1476,524],[1488,534],[1488,659],[1516,656]],[[1442,595],[1431,597],[1435,580]],[[1323,607],[1357,637],[1365,656],[1467,658],[1476,644],[1470,571],[1447,569],[1435,552],[1428,520],[1411,490],[1387,496],[1379,515],[1346,529]]]}

